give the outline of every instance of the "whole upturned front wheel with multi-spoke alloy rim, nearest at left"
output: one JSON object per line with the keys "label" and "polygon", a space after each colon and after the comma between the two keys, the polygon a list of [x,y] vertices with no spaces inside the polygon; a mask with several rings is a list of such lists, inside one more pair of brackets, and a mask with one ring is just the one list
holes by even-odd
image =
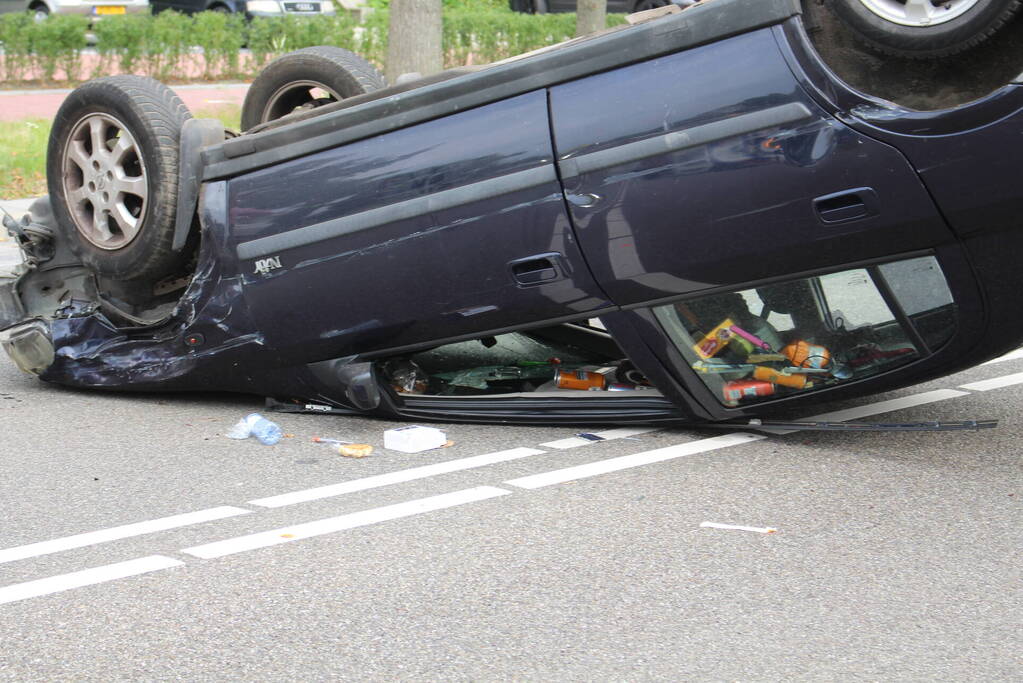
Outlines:
{"label": "whole upturned front wheel with multi-spoke alloy rim, nearest at left", "polygon": [[90,81],[57,111],[46,152],[53,212],[75,254],[101,275],[154,282],[181,266],[171,241],[190,118],[174,91],[140,76]]}

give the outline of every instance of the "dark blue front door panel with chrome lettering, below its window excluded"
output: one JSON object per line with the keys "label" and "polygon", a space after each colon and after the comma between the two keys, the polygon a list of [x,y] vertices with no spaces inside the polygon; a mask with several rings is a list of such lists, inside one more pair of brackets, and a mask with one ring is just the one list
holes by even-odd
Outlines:
{"label": "dark blue front door panel with chrome lettering, below its window excluded", "polygon": [[568,219],[543,91],[242,175],[228,193],[246,301],[285,357],[610,306]]}

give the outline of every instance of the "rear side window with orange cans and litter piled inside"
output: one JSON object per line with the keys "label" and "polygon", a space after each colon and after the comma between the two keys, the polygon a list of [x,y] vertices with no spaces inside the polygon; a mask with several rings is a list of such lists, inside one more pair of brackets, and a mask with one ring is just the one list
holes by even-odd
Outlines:
{"label": "rear side window with orange cans and litter piled inside", "polygon": [[654,312],[726,406],[904,365],[947,342],[955,320],[951,292],[932,257],[715,293]]}

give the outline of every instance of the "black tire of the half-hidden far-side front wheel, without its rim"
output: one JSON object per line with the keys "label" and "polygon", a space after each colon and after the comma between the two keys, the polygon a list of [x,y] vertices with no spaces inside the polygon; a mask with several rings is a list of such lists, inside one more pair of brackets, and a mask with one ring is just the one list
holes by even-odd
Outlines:
{"label": "black tire of the half-hidden far-side front wheel, without its rim", "polygon": [[[354,61],[366,70],[367,76],[379,81],[369,84],[359,81],[344,65],[331,61],[321,53],[327,50],[333,52],[338,58]],[[288,52],[267,64],[249,87],[241,105],[241,130],[248,131],[264,123],[263,110],[274,93],[291,83],[301,81],[320,83],[338,93],[342,99],[372,92],[386,86],[384,77],[372,64],[344,48],[320,46]]]}

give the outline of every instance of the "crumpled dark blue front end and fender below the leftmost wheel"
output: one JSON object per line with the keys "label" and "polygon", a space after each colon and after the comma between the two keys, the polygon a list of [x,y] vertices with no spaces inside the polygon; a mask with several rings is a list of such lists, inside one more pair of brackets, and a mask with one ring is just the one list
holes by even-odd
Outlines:
{"label": "crumpled dark blue front end and fender below the leftmost wheel", "polygon": [[[220,186],[205,189],[208,207],[223,199]],[[381,398],[369,364],[286,365],[267,349],[235,262],[225,258],[222,226],[207,219],[194,270],[177,299],[128,311],[66,247],[48,199],[40,199],[30,217],[7,225],[23,264],[0,276],[0,346],[23,371],[68,386],[227,391],[375,408]]]}

